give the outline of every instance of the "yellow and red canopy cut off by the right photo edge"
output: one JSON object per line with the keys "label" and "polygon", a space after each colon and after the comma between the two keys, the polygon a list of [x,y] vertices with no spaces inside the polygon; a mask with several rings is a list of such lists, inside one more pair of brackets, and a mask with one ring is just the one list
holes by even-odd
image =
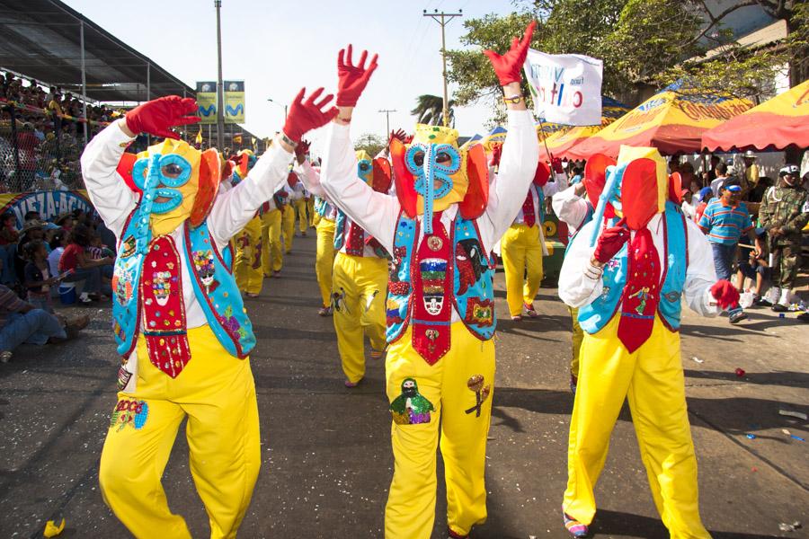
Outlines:
{"label": "yellow and red canopy cut off by the right photo edge", "polygon": [[809,147],[809,80],[702,135],[708,150],[783,150]]}

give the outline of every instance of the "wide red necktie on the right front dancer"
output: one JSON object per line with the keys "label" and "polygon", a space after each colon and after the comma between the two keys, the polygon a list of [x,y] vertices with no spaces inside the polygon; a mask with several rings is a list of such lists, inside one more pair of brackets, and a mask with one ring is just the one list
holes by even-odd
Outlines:
{"label": "wide red necktie on the right front dancer", "polygon": [[627,261],[627,286],[621,297],[618,339],[631,354],[652,334],[660,301],[660,259],[648,228],[635,233],[627,248]]}

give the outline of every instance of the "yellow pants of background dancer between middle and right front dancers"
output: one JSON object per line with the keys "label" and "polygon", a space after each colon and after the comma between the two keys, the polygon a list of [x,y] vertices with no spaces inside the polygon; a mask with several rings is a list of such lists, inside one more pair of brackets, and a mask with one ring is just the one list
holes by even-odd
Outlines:
{"label": "yellow pants of background dancer between middle and right front dancers", "polygon": [[542,282],[539,226],[511,225],[502,234],[500,252],[506,278],[506,303],[511,316],[518,316],[522,314],[523,304],[534,303]]}

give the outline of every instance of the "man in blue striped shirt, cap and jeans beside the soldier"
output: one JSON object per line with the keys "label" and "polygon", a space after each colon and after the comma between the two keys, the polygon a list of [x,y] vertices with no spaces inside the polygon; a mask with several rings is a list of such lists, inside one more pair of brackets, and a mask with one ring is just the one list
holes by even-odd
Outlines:
{"label": "man in blue striped shirt, cap and jeans beside the soldier", "polygon": [[[717,167],[718,168],[718,167]],[[751,243],[756,245],[756,253],[761,252],[761,244],[756,237],[747,206],[740,201],[742,187],[736,181],[725,181],[721,197],[711,200],[699,218],[699,228],[707,234],[714,253],[716,278],[729,280],[733,276],[736,249],[742,234],[748,234]],[[738,303],[728,309],[730,323],[739,323],[745,318]]]}

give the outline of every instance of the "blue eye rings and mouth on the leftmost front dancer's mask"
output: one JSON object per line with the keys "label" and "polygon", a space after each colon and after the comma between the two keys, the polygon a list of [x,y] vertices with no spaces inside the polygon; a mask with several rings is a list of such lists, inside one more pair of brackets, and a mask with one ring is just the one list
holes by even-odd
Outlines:
{"label": "blue eye rings and mouth on the leftmost front dancer's mask", "polygon": [[[143,190],[141,201],[147,214],[164,214],[182,204],[177,190],[191,179],[192,167],[182,155],[151,155],[138,159],[132,169],[135,185]],[[165,199],[157,202],[156,199]]]}

